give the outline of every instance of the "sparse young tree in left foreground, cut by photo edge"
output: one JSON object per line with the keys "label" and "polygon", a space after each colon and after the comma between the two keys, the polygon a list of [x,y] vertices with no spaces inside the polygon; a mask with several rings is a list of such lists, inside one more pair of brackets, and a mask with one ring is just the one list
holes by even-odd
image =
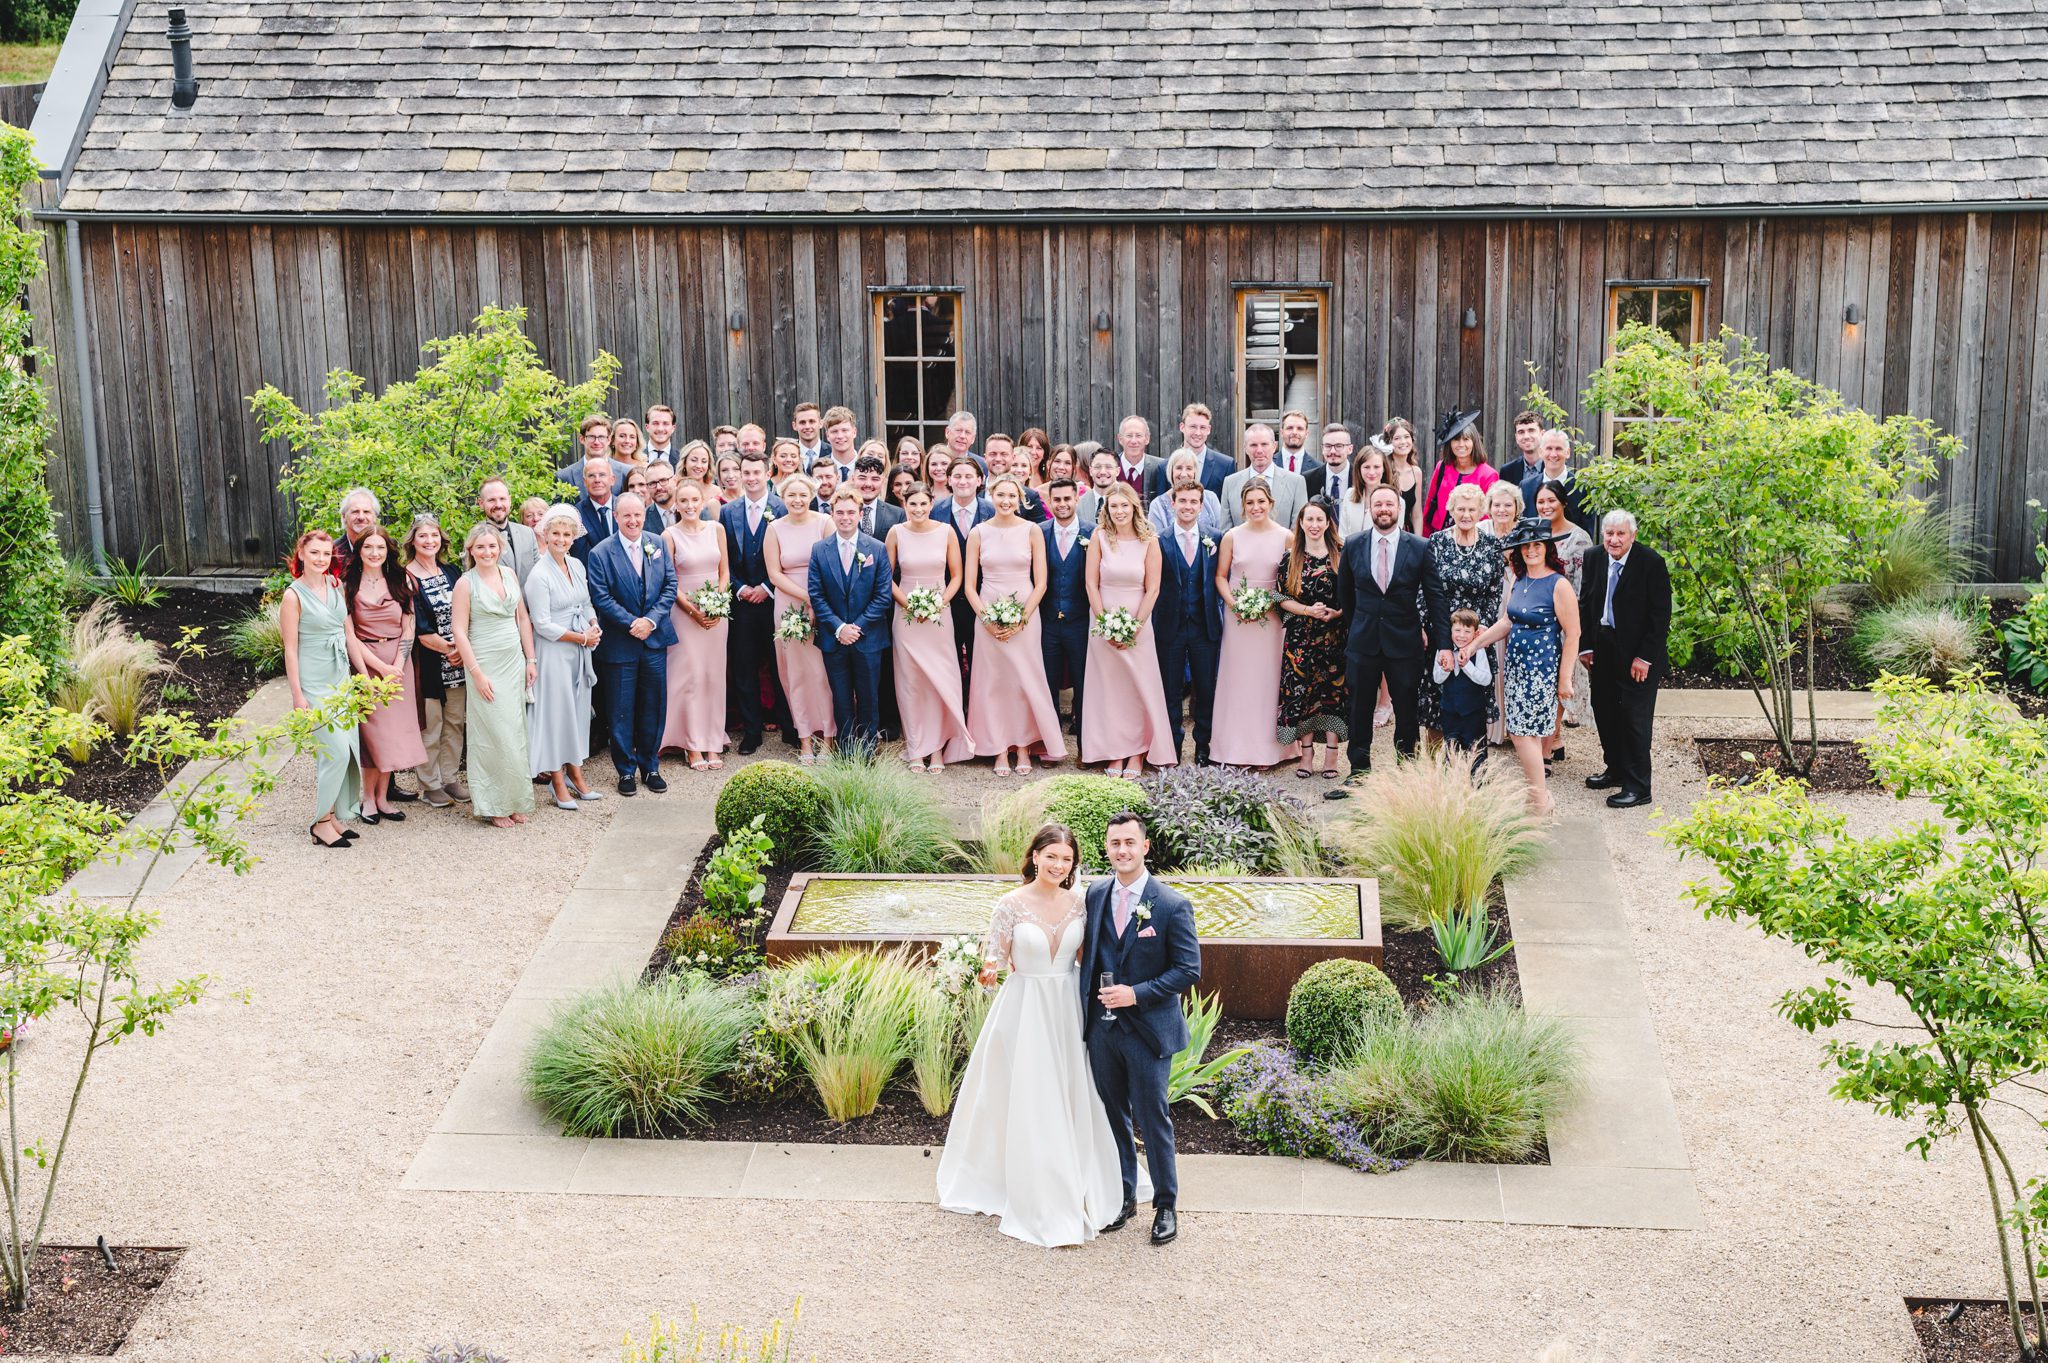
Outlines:
{"label": "sparse young tree in left foreground, cut by photo edge", "polygon": [[[254,858],[236,823],[274,780],[262,757],[289,747],[307,751],[324,727],[356,724],[395,682],[356,677],[319,710],[295,710],[276,724],[246,731],[238,720],[201,729],[158,712],[137,729],[127,761],[160,772],[184,765],[166,790],[170,821],[123,829],[123,815],[63,794],[63,753],[80,739],[100,741],[94,720],[43,700],[43,665],[23,636],[0,639],[0,1027],[12,1042],[0,1052],[6,1097],[6,1144],[0,1148],[0,1287],[6,1306],[29,1304],[29,1269],[43,1244],[57,1197],[63,1156],[80,1115],[92,1062],[109,1046],[156,1036],[178,1009],[197,1003],[205,976],[143,984],[137,954],[156,915],[137,907],[147,872],[178,847],[197,847],[236,874]],[[84,900],[63,888],[100,855],[139,858],[143,874],[125,903]],[[23,1056],[20,1029],[74,1013],[84,1027],[74,1048],[51,1040]],[[25,1089],[55,1083],[70,1093],[63,1126],[51,1142],[20,1130]]]}

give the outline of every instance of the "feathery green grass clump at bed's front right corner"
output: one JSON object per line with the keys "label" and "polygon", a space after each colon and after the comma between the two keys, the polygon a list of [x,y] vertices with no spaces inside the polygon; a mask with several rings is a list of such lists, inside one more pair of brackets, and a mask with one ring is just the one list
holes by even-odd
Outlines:
{"label": "feathery green grass clump at bed's front right corner", "polygon": [[1368,1019],[1323,1083],[1391,1158],[1513,1162],[1577,1093],[1571,1025],[1505,988],[1466,991],[1413,1019]]}

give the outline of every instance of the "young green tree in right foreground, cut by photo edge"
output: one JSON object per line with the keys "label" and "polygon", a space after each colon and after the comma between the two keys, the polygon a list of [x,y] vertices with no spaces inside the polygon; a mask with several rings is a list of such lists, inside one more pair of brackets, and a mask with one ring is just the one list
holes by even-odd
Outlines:
{"label": "young green tree in right foreground, cut by photo edge", "polygon": [[[1991,1115],[2017,1109],[2038,1128],[2048,1097],[2048,720],[2021,718],[1982,671],[1948,688],[1884,677],[1878,694],[1870,765],[1898,798],[1933,802],[1939,823],[1851,837],[1843,815],[1765,772],[1663,835],[1720,872],[1722,884],[1690,886],[1708,917],[1751,919],[1827,968],[1778,1011],[1806,1031],[1849,1031],[1827,1042],[1835,1097],[1915,1124],[1909,1148],[1923,1158],[1968,1134],[2013,1340],[2036,1359],[2048,1189],[2021,1177]],[[1911,1025],[1866,1013],[1876,1001],[1855,984],[1894,995]]]}

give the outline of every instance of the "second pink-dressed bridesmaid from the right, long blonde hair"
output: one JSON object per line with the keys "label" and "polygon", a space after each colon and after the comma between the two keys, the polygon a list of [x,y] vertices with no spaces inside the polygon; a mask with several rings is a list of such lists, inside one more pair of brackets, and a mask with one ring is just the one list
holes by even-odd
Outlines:
{"label": "second pink-dressed bridesmaid from the right, long blonde hair", "polygon": [[1159,534],[1139,512],[1128,483],[1112,483],[1102,518],[1087,540],[1087,608],[1114,606],[1137,614],[1139,636],[1116,647],[1100,634],[1087,639],[1087,692],[1081,696],[1081,761],[1108,761],[1104,776],[1145,776],[1145,763],[1167,767],[1174,722],[1165,712],[1159,653],[1151,636],[1151,610],[1159,600]]}

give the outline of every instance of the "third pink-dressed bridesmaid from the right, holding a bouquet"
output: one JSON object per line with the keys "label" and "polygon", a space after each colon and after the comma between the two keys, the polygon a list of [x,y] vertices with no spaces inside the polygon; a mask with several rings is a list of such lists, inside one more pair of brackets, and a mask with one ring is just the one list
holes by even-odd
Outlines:
{"label": "third pink-dressed bridesmaid from the right, holding a bouquet", "polygon": [[[967,604],[975,608],[975,667],[967,675],[967,733],[977,753],[995,755],[995,776],[1010,776],[1010,749],[1018,772],[1030,772],[1030,749],[1047,761],[1067,755],[1059,733],[1059,706],[1044,679],[1038,643],[1038,598],[1044,596],[1044,536],[1018,516],[1024,483],[1004,475],[989,485],[995,516],[967,532]],[[1024,622],[995,628],[981,620],[989,602],[1016,598]]]}

